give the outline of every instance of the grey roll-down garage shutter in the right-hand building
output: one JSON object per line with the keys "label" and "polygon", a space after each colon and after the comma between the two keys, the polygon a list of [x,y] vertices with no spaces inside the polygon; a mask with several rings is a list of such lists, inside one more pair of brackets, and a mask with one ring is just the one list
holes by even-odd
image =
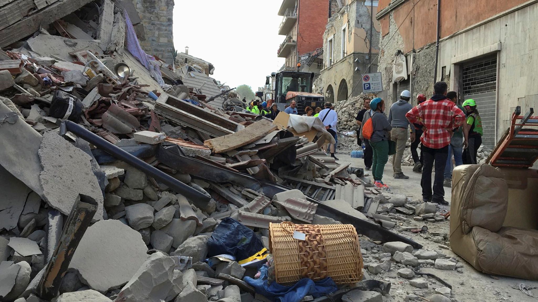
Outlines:
{"label": "grey roll-down garage shutter in the right-hand building", "polygon": [[495,146],[495,113],[497,112],[497,57],[463,66],[463,97],[474,99],[482,117],[484,146]]}

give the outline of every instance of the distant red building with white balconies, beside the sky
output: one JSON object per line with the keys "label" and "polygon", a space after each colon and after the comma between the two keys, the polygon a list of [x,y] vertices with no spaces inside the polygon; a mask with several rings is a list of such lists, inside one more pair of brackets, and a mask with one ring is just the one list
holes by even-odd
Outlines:
{"label": "distant red building with white balconies, beside the sky", "polygon": [[[303,55],[315,53],[323,46],[329,1],[282,0],[278,15],[282,16],[278,34],[285,36],[277,51],[278,57],[286,59],[281,70],[295,69]],[[310,65],[308,71],[318,73],[320,67],[320,64]]]}

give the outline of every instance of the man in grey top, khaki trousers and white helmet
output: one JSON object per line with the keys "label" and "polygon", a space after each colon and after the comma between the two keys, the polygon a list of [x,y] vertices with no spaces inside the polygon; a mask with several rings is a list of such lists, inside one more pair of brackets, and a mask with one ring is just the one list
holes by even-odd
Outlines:
{"label": "man in grey top, khaki trousers and white helmet", "polygon": [[411,127],[411,141],[415,140],[415,126],[409,124],[405,114],[413,108],[409,104],[411,92],[409,90],[402,91],[398,102],[392,104],[391,110],[388,113],[388,123],[391,123],[391,140],[396,142],[396,154],[392,156],[392,170],[394,178],[409,179],[402,172],[402,157],[404,156],[405,145],[407,142],[407,128]]}

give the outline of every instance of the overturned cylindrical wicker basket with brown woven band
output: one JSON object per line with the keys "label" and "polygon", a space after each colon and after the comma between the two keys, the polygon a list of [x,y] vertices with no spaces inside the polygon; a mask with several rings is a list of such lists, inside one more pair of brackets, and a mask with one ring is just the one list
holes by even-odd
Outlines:
{"label": "overturned cylindrical wicker basket with brown woven band", "polygon": [[[295,239],[294,231],[306,234],[305,240]],[[363,258],[352,225],[295,225],[286,221],[270,223],[269,232],[275,279],[279,284],[327,277],[336,284],[352,284],[362,278]]]}

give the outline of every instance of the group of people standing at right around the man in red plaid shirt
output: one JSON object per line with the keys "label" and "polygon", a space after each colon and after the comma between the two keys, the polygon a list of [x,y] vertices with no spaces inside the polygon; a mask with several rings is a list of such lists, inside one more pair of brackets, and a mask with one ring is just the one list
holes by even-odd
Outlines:
{"label": "group of people standing at right around the man in red plaid shirt", "polygon": [[364,109],[358,112],[356,123],[365,169],[372,170],[375,186],[388,188],[383,182],[383,172],[388,156],[393,155],[393,177],[409,179],[401,170],[401,162],[410,137],[413,171],[422,173],[423,201],[448,205],[444,186],[451,186],[452,156],[455,166],[477,163],[483,128],[476,102],[468,99],[458,105],[457,92],[448,91],[445,82],[435,83],[434,95],[428,100],[420,94],[413,106],[410,99],[410,92],[402,91],[400,99],[388,110],[388,116],[383,99],[364,99]]}

